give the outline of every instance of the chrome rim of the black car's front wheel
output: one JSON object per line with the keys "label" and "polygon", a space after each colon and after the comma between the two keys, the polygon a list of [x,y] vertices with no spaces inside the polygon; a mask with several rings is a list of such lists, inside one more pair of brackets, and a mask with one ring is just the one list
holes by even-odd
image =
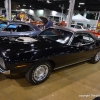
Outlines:
{"label": "chrome rim of the black car's front wheel", "polygon": [[32,79],[35,79],[36,81],[42,81],[43,79],[46,78],[47,74],[48,74],[48,66],[40,65],[32,73]]}

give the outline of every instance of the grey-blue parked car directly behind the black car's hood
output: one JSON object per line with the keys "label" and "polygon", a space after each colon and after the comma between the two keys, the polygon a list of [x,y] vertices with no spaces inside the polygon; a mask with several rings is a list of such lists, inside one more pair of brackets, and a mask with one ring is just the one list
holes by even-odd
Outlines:
{"label": "grey-blue parked car directly behind the black car's hood", "polygon": [[0,23],[0,36],[35,36],[42,30],[33,23],[3,21]]}

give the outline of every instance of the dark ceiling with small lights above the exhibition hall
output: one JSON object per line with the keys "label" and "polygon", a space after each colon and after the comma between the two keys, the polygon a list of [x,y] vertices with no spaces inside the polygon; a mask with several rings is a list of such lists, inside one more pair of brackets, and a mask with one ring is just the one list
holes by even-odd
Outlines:
{"label": "dark ceiling with small lights above the exhibition hall", "polygon": [[[69,8],[69,0],[11,0],[12,8],[15,9],[50,9],[61,12],[61,7],[64,5],[64,13]],[[80,4],[79,3],[85,3]],[[15,4],[15,5],[14,5]],[[0,1],[0,7],[4,7],[4,1]],[[100,0],[76,0],[75,10],[79,11],[100,11]]]}

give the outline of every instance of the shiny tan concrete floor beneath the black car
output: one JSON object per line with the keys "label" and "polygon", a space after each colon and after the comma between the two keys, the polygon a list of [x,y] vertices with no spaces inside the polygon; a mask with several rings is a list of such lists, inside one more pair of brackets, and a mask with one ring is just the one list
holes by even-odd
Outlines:
{"label": "shiny tan concrete floor beneath the black car", "polygon": [[96,96],[100,96],[100,62],[54,71],[40,85],[31,85],[22,76],[0,74],[0,100],[93,100]]}

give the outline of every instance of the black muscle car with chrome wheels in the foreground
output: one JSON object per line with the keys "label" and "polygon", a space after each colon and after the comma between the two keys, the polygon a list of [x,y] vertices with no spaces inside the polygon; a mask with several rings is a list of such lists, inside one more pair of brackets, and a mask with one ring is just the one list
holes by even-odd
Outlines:
{"label": "black muscle car with chrome wheels in the foreground", "polygon": [[37,37],[0,37],[0,72],[25,73],[31,84],[44,82],[52,70],[100,60],[100,40],[87,30],[51,27]]}

